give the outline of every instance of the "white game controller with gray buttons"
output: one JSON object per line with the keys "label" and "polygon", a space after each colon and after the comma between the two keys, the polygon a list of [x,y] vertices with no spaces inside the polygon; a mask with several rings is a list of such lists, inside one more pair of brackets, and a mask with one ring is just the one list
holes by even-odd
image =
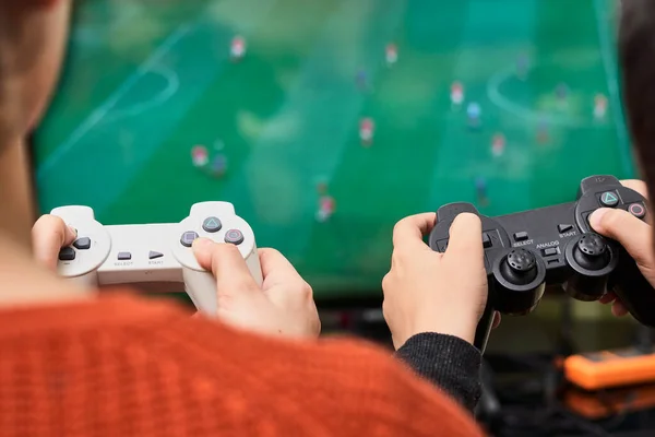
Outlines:
{"label": "white game controller with gray buttons", "polygon": [[216,281],[191,251],[198,237],[237,246],[258,284],[262,284],[254,234],[228,202],[203,202],[175,224],[103,226],[88,206],[51,212],[78,229],[78,239],[59,252],[58,273],[86,285],[144,282],[183,283],[195,307],[216,315]]}

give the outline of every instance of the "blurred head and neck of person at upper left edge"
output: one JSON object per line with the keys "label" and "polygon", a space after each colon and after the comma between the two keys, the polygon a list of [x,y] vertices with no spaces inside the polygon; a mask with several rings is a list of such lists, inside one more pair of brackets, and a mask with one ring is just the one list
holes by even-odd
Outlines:
{"label": "blurred head and neck of person at upper left edge", "polygon": [[57,81],[69,0],[0,0],[0,231],[28,240],[33,218],[25,139]]}

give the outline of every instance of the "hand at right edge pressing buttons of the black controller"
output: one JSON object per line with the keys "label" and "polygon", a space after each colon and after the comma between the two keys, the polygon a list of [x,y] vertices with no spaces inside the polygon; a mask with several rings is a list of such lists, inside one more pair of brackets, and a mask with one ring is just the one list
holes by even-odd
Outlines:
{"label": "hand at right edge pressing buttons of the black controller", "polygon": [[[643,181],[621,180],[621,184],[647,199],[648,190]],[[628,211],[602,208],[590,216],[590,224],[598,234],[619,241],[634,259],[646,281],[655,286],[655,256],[653,255],[653,231],[650,223],[636,218]],[[611,312],[617,317],[628,314],[623,303],[614,293],[603,296],[600,303],[611,303]]]}

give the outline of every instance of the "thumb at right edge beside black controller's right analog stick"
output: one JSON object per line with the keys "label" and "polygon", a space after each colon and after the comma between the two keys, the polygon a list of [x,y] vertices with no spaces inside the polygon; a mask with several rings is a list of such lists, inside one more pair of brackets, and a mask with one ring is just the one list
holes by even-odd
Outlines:
{"label": "thumb at right edge beside black controller's right analog stick", "polygon": [[653,268],[651,226],[628,211],[602,208],[590,216],[597,233],[616,239],[641,267]]}

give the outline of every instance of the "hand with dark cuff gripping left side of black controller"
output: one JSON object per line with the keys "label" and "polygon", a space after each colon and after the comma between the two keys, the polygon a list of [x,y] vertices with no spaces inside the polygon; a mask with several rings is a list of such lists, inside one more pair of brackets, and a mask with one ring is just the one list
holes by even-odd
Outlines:
{"label": "hand with dark cuff gripping left side of black controller", "polygon": [[[473,343],[487,303],[480,220],[460,214],[444,253],[424,243],[434,213],[412,215],[393,229],[391,270],[382,281],[384,319],[397,350],[421,332],[451,334]],[[499,319],[497,318],[499,321]]]}

